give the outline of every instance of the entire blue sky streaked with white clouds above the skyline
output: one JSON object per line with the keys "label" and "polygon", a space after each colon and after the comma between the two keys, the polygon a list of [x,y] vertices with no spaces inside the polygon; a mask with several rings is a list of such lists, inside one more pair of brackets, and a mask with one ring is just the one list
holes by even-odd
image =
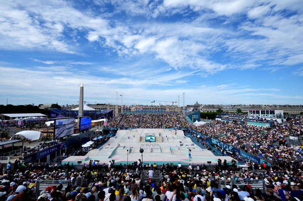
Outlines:
{"label": "entire blue sky streaked with white clouds above the skyline", "polygon": [[[0,2],[0,104],[302,104],[301,0]],[[119,97],[120,103],[120,97]]]}

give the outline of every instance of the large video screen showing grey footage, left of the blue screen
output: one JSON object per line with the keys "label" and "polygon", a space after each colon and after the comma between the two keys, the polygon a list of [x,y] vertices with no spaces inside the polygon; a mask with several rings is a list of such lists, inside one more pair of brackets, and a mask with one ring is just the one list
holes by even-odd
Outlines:
{"label": "large video screen showing grey footage, left of the blue screen", "polygon": [[74,134],[75,118],[55,119],[55,139]]}

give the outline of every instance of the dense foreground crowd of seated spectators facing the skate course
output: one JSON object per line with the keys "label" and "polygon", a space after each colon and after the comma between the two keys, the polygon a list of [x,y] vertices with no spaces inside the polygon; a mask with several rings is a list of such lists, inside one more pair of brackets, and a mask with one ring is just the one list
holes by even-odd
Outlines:
{"label": "dense foreground crowd of seated spectators facing the skate course", "polygon": [[[82,170],[65,166],[28,165],[19,169],[4,167],[0,176],[0,200],[28,201],[302,201],[303,171],[292,167],[273,166],[263,172],[231,170],[228,166],[220,169],[193,168],[191,165],[163,164],[158,167],[160,180],[155,181],[157,166],[145,165],[141,161],[132,167],[113,165],[108,173],[101,171],[98,161],[92,161]],[[145,167],[143,170],[142,167]],[[200,168],[201,167],[201,168]],[[149,169],[148,171],[146,169]],[[145,171],[150,180],[144,183],[139,171]],[[39,180],[71,180],[71,185],[53,185],[36,193]],[[264,189],[252,187],[254,180],[265,184]],[[221,182],[220,182],[221,181]],[[223,183],[224,186],[219,186]],[[239,184],[232,183],[238,181]],[[262,192],[261,190],[264,190]]]}

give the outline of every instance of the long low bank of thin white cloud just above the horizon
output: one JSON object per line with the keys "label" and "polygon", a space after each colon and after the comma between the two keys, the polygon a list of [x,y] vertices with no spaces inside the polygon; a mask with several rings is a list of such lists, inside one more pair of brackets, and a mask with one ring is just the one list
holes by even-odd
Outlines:
{"label": "long low bank of thin white cloud just above the horizon", "polygon": [[[183,92],[185,92],[186,104],[192,104],[192,100],[196,99],[203,100],[200,101],[200,104],[263,104],[268,102],[261,102],[260,100],[268,97],[274,99],[273,103],[275,104],[282,104],[286,100],[288,100],[288,104],[298,104],[303,100],[301,95],[296,95],[291,96],[292,99],[289,102],[288,96],[279,95],[280,93],[275,94],[278,91],[275,88],[250,88],[249,86],[239,88],[237,85],[233,86],[234,84],[229,83],[225,84],[228,87],[223,85],[194,85],[191,87],[178,85],[171,88],[175,85],[175,82],[183,82],[183,78],[188,77],[188,75],[178,73],[155,74],[153,78],[149,76],[149,79],[135,80],[131,78],[101,77],[85,72],[78,73],[73,71],[72,68],[64,66],[53,66],[52,69],[49,69],[49,67],[44,69],[43,67],[37,67],[36,69],[0,67],[0,70],[5,75],[2,78],[2,94],[7,94],[8,97],[15,94],[25,98],[29,97],[26,103],[33,102],[35,104],[39,104],[41,101],[76,104],[81,82],[85,86],[84,99],[101,103],[114,103],[116,91],[123,93],[126,104],[133,104],[134,101],[140,104],[149,104],[150,100],[154,99],[176,101],[177,96],[181,96]],[[85,77],[85,80],[83,77]],[[106,86],[106,88],[102,88],[102,86]],[[228,97],[228,100],[226,97]]]}

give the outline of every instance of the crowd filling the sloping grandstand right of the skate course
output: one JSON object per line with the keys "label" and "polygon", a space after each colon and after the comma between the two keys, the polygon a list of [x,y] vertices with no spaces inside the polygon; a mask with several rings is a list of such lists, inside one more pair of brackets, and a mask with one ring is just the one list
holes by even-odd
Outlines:
{"label": "crowd filling the sloping grandstand right of the skate course", "polygon": [[294,146],[277,144],[279,140],[288,136],[299,137],[303,134],[303,119],[300,117],[294,117],[272,128],[217,120],[193,129],[268,161],[293,161],[303,156],[303,144]]}

